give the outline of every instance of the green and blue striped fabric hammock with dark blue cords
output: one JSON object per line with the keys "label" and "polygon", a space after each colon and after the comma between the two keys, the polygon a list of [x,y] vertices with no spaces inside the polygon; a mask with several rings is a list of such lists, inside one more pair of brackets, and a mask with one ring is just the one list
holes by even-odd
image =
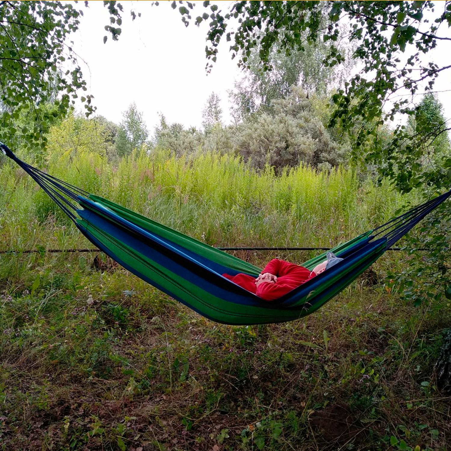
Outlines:
{"label": "green and blue striped fabric hammock with dark blue cords", "polygon": [[[56,179],[19,160],[4,144],[0,148],[110,258],[202,316],[230,325],[286,322],[313,313],[451,195],[450,190],[336,246],[332,251],[341,262],[267,302],[222,276],[243,272],[257,277],[260,268]],[[325,259],[322,253],[303,266],[311,270]]]}

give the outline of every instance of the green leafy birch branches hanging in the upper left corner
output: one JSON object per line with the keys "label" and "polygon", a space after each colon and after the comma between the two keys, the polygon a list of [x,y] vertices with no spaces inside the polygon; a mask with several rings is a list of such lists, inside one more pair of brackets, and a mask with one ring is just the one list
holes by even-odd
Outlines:
{"label": "green leafy birch branches hanging in the upper left corner", "polygon": [[[106,31],[117,39],[122,6],[113,0],[104,5],[110,13]],[[87,91],[67,42],[82,16],[81,9],[61,1],[0,1],[0,140],[45,147],[55,118],[64,117],[78,92]],[[80,100],[90,115],[92,96],[83,94]]]}

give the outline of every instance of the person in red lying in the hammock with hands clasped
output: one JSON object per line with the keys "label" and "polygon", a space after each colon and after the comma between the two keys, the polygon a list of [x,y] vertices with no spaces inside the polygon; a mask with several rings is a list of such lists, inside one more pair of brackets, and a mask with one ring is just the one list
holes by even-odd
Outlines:
{"label": "person in red lying in the hammock with hands clasped", "polygon": [[343,258],[338,258],[334,253],[328,252],[327,260],[319,263],[313,268],[313,271],[310,271],[295,263],[273,258],[257,278],[242,273],[236,276],[230,276],[230,274],[223,274],[223,276],[258,297],[266,301],[273,301],[318,276],[341,260]]}

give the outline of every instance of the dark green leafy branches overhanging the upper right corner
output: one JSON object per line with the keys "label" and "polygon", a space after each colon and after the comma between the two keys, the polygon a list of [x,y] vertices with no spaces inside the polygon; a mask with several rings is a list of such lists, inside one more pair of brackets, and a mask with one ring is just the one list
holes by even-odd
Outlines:
{"label": "dark green leafy branches overhanging the upper right corner", "polygon": [[[179,3],[187,25],[193,5]],[[350,133],[354,157],[376,164],[380,175],[391,178],[401,191],[421,184],[437,189],[451,186],[451,159],[444,159],[439,170],[423,166],[422,146],[418,146],[419,140],[415,145],[410,141],[404,125],[393,130],[388,143],[380,139],[381,127],[398,113],[414,115],[411,97],[423,89],[432,90],[437,75],[451,68],[451,64],[438,65],[423,58],[439,41],[451,41],[445,32],[451,24],[450,1],[438,5],[432,1],[238,1],[223,13],[207,0],[203,7],[209,12],[198,16],[195,23],[209,21],[207,70],[216,61],[218,44],[224,38],[230,41],[232,58],[238,57],[244,68],[249,67],[255,47],[262,69],[267,71],[272,69],[275,45],[290,55],[320,40],[331,42],[323,64],[342,64],[345,55],[339,44],[343,24],[347,30],[343,39],[356,46],[353,57],[362,69],[333,95],[330,126]],[[232,30],[233,24],[236,29]],[[439,132],[449,129],[442,126]],[[430,132],[422,129],[419,138],[429,139]]]}

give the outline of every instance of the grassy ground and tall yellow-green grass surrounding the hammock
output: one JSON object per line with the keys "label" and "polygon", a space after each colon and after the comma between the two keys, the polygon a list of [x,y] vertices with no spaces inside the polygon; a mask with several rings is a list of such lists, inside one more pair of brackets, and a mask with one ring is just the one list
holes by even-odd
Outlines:
{"label": "grassy ground and tall yellow-green grass surrounding the hammock", "polygon": [[[276,177],[211,154],[47,170],[215,246],[328,247],[415,202],[349,170]],[[450,309],[388,288],[404,253],[302,320],[219,325],[95,253],[46,253],[92,245],[20,169],[4,163],[0,182],[0,250],[15,251],[0,254],[0,449],[451,449],[434,379]]]}

